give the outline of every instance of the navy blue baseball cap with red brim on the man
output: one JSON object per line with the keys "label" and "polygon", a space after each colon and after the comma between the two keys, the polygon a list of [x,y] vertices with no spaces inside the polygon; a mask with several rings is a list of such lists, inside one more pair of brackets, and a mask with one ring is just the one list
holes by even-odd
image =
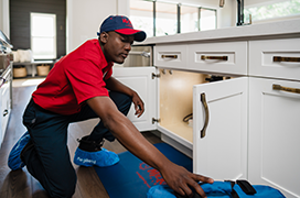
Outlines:
{"label": "navy blue baseball cap with red brim on the man", "polygon": [[125,35],[133,35],[135,41],[142,42],[146,38],[146,32],[140,30],[135,30],[130,20],[125,15],[109,15],[104,20],[100,32],[97,35],[100,35],[103,32],[115,31]]}

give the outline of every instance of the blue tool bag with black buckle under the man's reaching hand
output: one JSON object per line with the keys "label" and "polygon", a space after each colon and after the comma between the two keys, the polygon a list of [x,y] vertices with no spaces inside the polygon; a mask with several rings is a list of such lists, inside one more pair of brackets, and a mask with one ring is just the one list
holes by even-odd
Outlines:
{"label": "blue tool bag with black buckle under the man's reaching hand", "polygon": [[[285,198],[278,190],[264,185],[250,185],[247,180],[200,183],[208,198]],[[157,185],[149,189],[147,198],[184,198],[174,193],[168,185]],[[201,198],[194,194],[193,198]]]}

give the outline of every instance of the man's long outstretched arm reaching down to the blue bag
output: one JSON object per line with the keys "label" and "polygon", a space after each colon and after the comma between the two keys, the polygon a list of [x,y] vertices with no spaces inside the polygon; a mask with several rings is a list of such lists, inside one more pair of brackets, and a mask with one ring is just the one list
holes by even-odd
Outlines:
{"label": "man's long outstretched arm reaching down to the blue bag", "polygon": [[197,182],[213,183],[213,179],[192,174],[184,167],[170,162],[159,150],[148,142],[136,127],[118,111],[109,97],[95,97],[87,100],[88,106],[99,116],[105,127],[133,155],[158,169],[167,184],[181,195],[192,195],[190,187],[206,197]]}

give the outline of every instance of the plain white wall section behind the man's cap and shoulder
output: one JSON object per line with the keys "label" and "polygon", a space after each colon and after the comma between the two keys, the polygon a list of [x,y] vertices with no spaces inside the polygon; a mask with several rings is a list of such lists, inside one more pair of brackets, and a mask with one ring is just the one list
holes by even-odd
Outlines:
{"label": "plain white wall section behind the man's cap and shoulder", "polygon": [[97,37],[108,15],[129,13],[128,0],[67,0],[67,53]]}

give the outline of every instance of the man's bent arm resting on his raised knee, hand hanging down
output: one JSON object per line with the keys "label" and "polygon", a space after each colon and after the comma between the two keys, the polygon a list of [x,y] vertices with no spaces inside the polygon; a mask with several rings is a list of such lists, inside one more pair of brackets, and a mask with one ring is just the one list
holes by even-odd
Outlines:
{"label": "man's bent arm resting on his raised knee, hand hanging down", "polygon": [[124,92],[128,96],[131,96],[132,102],[133,102],[135,109],[136,109],[135,114],[138,116],[138,118],[143,113],[143,111],[144,111],[143,101],[141,100],[141,98],[139,97],[139,95],[136,91],[133,91],[132,89],[130,89],[126,85],[121,84],[119,80],[117,80],[114,77],[108,78],[105,82],[106,82],[107,89],[113,90],[113,91]]}

